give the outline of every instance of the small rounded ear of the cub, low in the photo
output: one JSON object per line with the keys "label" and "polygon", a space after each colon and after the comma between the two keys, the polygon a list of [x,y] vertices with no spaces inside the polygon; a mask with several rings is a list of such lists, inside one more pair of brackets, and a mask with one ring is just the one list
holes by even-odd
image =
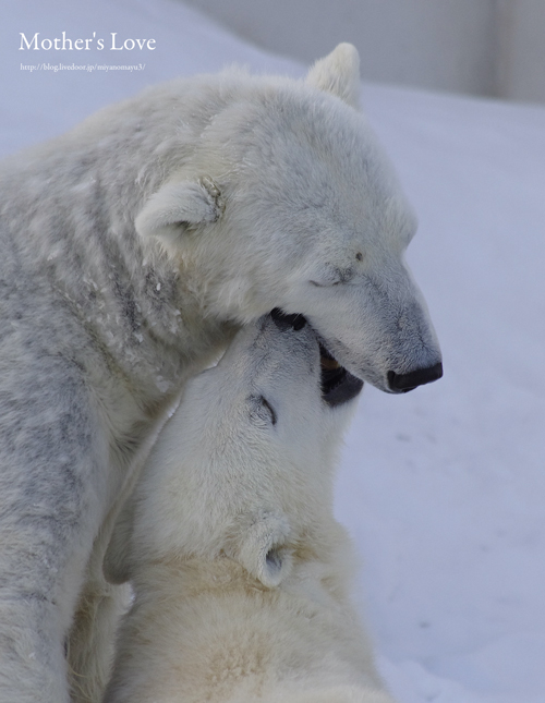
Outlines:
{"label": "small rounded ear of the cub, low in the photo", "polygon": [[291,569],[292,556],[287,546],[289,532],[286,518],[261,516],[250,525],[242,526],[240,544],[232,556],[264,586],[274,589]]}

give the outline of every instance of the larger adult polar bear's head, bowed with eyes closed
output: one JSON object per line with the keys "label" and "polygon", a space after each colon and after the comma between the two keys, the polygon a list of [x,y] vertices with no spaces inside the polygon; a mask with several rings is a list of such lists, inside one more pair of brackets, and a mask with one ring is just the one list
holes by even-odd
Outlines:
{"label": "larger adult polar bear's head, bowed with eyes closed", "polygon": [[193,272],[208,315],[302,314],[350,373],[398,393],[439,378],[441,356],[404,260],[416,221],[359,87],[346,44],[305,81],[210,78],[198,140],[135,225]]}

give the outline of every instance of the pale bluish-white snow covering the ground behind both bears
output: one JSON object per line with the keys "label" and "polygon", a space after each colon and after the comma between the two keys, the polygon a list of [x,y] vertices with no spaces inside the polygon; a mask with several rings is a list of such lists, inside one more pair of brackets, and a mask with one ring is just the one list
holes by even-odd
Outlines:
{"label": "pale bluish-white snow covering the ground behind both bears", "polygon": [[[157,48],[19,50],[63,31]],[[2,155],[174,75],[304,73],[171,0],[3,0],[0,38]],[[145,68],[21,69],[39,62]],[[360,402],[336,505],[356,597],[400,702],[543,703],[545,109],[378,85],[363,102],[420,216],[409,260],[445,377]]]}

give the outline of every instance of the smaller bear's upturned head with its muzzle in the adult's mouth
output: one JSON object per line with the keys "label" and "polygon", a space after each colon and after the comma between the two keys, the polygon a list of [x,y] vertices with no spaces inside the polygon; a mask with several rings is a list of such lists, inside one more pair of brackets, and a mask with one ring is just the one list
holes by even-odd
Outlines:
{"label": "smaller bear's upturned head with its muzzle in the adult's mouth", "polygon": [[107,578],[173,555],[228,556],[264,585],[280,583],[298,544],[319,552],[336,534],[332,468],[362,386],[300,315],[275,310],[243,328],[187,384],[159,435],[118,521]]}

